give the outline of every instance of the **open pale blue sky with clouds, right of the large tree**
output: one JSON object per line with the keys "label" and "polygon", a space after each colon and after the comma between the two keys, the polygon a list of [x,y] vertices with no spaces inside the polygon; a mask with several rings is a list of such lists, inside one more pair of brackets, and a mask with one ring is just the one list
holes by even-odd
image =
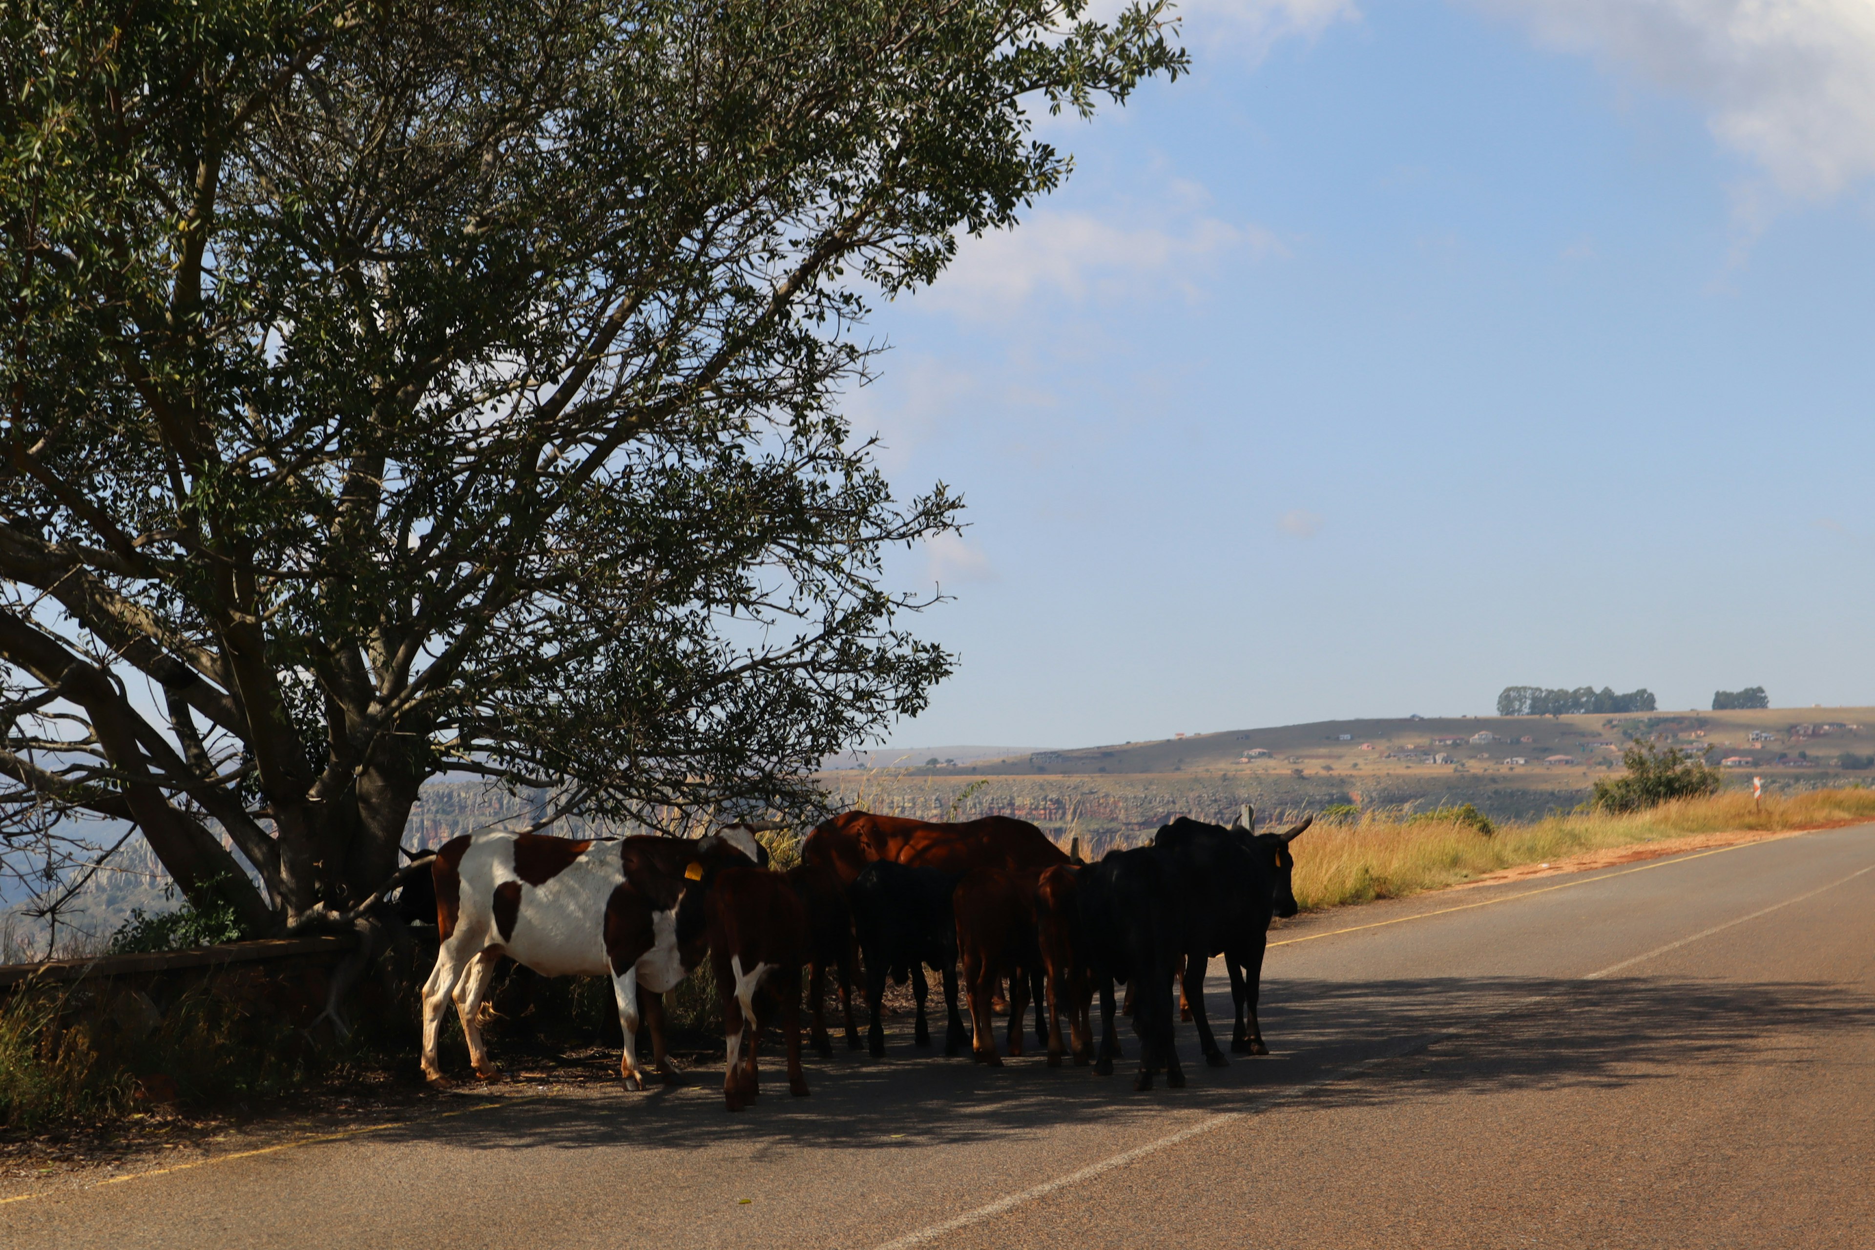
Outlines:
{"label": "open pale blue sky with clouds, right of the large tree", "polygon": [[848,397],[958,671],[892,742],[1875,705],[1875,6],[1198,0]]}

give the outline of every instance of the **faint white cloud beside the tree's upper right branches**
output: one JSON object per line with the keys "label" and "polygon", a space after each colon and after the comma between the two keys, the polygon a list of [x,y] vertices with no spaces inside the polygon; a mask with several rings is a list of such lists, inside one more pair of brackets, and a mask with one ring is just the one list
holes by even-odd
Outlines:
{"label": "faint white cloud beside the tree's upper right branches", "polygon": [[1129,229],[1091,214],[1039,210],[1014,231],[958,240],[956,260],[917,298],[952,311],[1007,315],[1044,290],[1080,300],[1095,290],[1196,283],[1200,262],[1224,253],[1286,255],[1281,240],[1258,225],[1194,217],[1176,229]]}

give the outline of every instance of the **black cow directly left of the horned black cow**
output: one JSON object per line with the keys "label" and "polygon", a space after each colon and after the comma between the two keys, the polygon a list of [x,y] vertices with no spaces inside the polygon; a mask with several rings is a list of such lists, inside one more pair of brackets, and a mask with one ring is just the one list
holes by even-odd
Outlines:
{"label": "black cow directly left of the horned black cow", "polygon": [[1162,847],[1108,851],[1080,870],[1080,958],[1101,991],[1101,1049],[1093,1070],[1114,1074],[1114,982],[1132,982],[1132,1031],[1140,1034],[1140,1072],[1132,1089],[1151,1089],[1153,1072],[1166,1085],[1185,1085],[1172,1040],[1172,975],[1183,943],[1178,864]]}

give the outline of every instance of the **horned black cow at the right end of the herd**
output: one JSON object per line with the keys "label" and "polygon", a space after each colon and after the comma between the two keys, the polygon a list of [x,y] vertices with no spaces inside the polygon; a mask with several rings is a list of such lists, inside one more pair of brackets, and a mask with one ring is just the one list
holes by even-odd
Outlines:
{"label": "horned black cow at the right end of the herd", "polygon": [[1211,956],[1224,956],[1230,973],[1230,999],[1236,1006],[1236,1029],[1230,1049],[1245,1055],[1268,1055],[1262,1027],[1256,1023],[1256,1001],[1264,976],[1264,948],[1269,941],[1271,916],[1296,915],[1296,892],[1290,873],[1296,860],[1292,843],[1311,821],[1284,834],[1256,834],[1256,813],[1245,804],[1230,828],[1179,817],[1162,826],[1153,845],[1166,851],[1178,871],[1179,922],[1185,956],[1185,1003],[1198,1025],[1198,1044],[1206,1063],[1221,1068],[1228,1059],[1211,1036],[1211,1021],[1204,1010],[1204,973]]}

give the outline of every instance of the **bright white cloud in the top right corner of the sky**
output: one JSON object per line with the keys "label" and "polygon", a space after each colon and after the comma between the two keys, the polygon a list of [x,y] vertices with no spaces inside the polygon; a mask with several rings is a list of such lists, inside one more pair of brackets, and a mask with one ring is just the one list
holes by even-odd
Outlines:
{"label": "bright white cloud in the top right corner of the sky", "polygon": [[1688,96],[1794,197],[1875,172],[1869,0],[1470,0]]}

